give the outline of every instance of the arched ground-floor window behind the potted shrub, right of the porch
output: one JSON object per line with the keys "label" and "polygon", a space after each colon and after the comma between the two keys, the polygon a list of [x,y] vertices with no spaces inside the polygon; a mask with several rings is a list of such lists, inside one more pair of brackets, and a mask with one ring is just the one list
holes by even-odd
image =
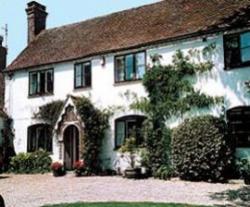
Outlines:
{"label": "arched ground-floor window behind the potted shrub, right of the porch", "polygon": [[142,123],[146,119],[144,116],[125,116],[115,121],[115,147],[119,148],[128,137],[135,137],[136,144],[143,142],[141,133]]}

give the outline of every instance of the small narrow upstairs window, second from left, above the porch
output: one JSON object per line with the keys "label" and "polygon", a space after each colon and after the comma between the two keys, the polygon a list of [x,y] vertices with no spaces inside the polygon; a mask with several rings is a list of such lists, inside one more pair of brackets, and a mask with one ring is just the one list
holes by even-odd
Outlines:
{"label": "small narrow upstairs window, second from left, above the porch", "polygon": [[74,87],[86,88],[91,86],[91,63],[77,63],[75,64],[75,83]]}

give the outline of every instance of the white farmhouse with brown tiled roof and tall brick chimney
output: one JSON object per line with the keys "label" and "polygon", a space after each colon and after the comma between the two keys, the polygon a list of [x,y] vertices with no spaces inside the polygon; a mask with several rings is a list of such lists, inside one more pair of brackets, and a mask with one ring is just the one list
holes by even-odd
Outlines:
{"label": "white farmhouse with brown tiled roof and tall brick chimney", "polygon": [[[52,29],[46,28],[45,6],[32,1],[26,12],[28,45],[5,70],[5,107],[14,121],[17,153],[43,148],[72,168],[84,147],[84,121],[74,99],[85,96],[98,108],[123,107],[114,111],[102,142],[100,159],[112,167],[117,149],[146,118],[130,109],[128,94],[147,95],[141,80],[150,57],[159,54],[162,64],[170,64],[177,50],[187,53],[211,44],[216,45],[214,68],[195,88],[224,97],[237,153],[250,153],[248,0],[162,0]],[[34,117],[39,107],[57,100],[64,107],[55,125]]]}

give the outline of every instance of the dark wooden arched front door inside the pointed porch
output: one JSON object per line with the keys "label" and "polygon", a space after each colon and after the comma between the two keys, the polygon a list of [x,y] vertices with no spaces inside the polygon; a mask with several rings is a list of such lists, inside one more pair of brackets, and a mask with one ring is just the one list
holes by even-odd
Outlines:
{"label": "dark wooden arched front door inside the pointed porch", "polygon": [[79,160],[79,131],[74,125],[64,131],[64,164],[67,170],[72,170],[75,161]]}

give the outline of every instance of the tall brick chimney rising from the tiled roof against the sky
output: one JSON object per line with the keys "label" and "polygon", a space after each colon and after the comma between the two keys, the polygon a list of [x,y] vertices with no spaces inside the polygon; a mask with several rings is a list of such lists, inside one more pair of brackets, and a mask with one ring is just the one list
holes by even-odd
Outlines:
{"label": "tall brick chimney rising from the tiled roof against the sky", "polygon": [[26,13],[28,16],[28,44],[35,37],[46,29],[46,18],[48,13],[46,7],[36,1],[27,4]]}

